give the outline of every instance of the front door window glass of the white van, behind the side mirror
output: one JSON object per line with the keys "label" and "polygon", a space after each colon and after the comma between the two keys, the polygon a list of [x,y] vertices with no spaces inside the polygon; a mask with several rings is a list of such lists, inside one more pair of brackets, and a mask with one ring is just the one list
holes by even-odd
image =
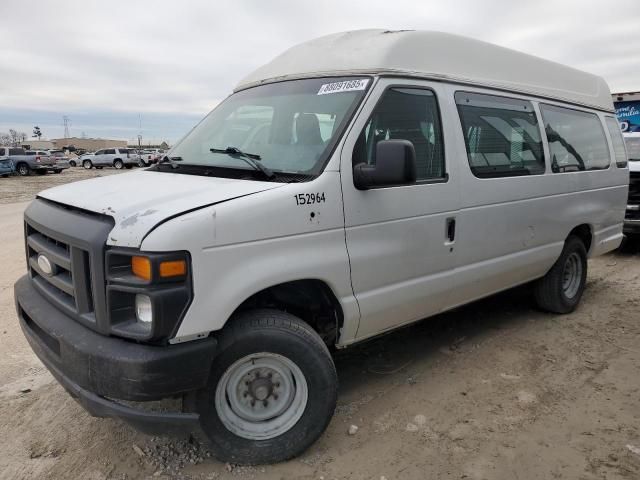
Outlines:
{"label": "front door window glass of the white van, behind the side mirror", "polygon": [[371,114],[353,148],[353,165],[375,165],[380,140],[409,140],[416,150],[417,179],[444,178],[444,146],[436,97],[431,90],[391,88]]}

